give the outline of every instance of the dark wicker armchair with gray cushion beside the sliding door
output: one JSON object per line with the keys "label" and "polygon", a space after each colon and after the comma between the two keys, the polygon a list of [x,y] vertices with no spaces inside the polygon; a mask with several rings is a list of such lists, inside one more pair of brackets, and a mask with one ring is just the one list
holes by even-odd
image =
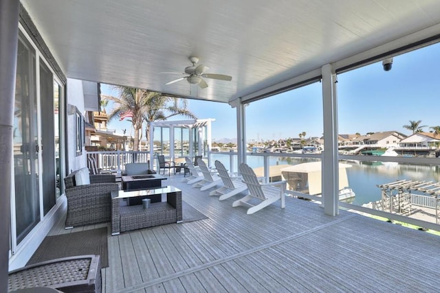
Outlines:
{"label": "dark wicker armchair with gray cushion beside the sliding door", "polygon": [[111,191],[118,190],[115,175],[89,175],[90,184],[77,185],[76,172],[65,177],[66,228],[111,221]]}

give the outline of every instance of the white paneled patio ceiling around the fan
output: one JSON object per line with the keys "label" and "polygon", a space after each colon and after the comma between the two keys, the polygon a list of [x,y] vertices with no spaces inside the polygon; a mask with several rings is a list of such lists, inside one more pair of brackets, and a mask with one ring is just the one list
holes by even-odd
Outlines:
{"label": "white paneled patio ceiling around the fan", "polygon": [[[217,102],[440,23],[437,0],[21,2],[67,78]],[[190,56],[232,81],[166,85],[186,75],[163,72],[183,73]]]}

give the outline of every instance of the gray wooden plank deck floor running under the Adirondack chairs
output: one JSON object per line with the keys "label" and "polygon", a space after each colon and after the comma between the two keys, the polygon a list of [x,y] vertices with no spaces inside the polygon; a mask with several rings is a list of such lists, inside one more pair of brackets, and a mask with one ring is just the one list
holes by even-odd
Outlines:
{"label": "gray wooden plank deck floor running under the Adirondack chairs", "polygon": [[[109,235],[103,292],[438,292],[440,238],[287,198],[246,215],[168,179],[206,220]],[[83,227],[83,228],[94,228]],[[80,228],[74,228],[78,231]],[[59,233],[66,233],[62,229]]]}

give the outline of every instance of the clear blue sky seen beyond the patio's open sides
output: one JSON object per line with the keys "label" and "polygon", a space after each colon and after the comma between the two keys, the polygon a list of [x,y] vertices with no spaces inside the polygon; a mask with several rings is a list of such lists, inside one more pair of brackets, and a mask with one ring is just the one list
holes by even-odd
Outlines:
{"label": "clear blue sky seen beyond the patio's open sides", "polygon": [[[338,127],[340,134],[366,134],[403,128],[410,120],[421,125],[440,126],[440,45],[395,56],[393,69],[384,71],[382,62],[338,75]],[[102,93],[115,95],[102,84]],[[190,99],[188,108],[200,119],[214,118],[212,138],[236,137],[236,110],[228,104]],[[175,119],[181,119],[176,117]],[[246,107],[247,139],[266,140],[322,135],[321,84],[281,93]],[[109,128],[130,133],[128,121],[111,121]]]}

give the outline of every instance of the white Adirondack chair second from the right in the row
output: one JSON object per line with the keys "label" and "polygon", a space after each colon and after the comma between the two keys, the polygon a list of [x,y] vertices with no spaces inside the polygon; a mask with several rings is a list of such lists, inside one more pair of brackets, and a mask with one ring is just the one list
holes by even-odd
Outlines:
{"label": "white Adirondack chair second from the right in the row", "polygon": [[219,177],[223,181],[223,186],[209,193],[210,196],[220,196],[219,200],[225,200],[248,189],[248,186],[241,181],[241,176],[230,176],[228,170],[220,161],[215,161],[215,167],[219,172]]}

